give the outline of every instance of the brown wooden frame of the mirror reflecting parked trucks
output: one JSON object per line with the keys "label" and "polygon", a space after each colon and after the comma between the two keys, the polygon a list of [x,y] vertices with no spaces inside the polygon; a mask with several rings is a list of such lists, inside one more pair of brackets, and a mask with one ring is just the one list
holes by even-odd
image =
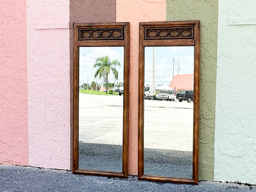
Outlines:
{"label": "brown wooden frame of the mirror reflecting parked trucks", "polygon": [[[160,34],[161,30],[186,29],[190,34],[178,36]],[[152,34],[149,31],[154,30]],[[180,32],[181,33],[181,32]],[[160,34],[160,35],[159,35]],[[144,54],[145,46],[194,46],[194,103],[193,103],[193,176],[192,179],[144,174]],[[139,82],[138,82],[138,179],[198,184],[199,148],[199,75],[200,21],[163,21],[139,23]]]}

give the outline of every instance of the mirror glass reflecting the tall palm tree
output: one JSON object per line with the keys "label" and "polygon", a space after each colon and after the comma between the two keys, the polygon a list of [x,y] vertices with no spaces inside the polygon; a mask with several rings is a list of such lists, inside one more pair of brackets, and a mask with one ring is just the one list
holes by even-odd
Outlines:
{"label": "mirror glass reflecting the tall palm tree", "polygon": [[122,172],[124,47],[79,48],[79,168]]}

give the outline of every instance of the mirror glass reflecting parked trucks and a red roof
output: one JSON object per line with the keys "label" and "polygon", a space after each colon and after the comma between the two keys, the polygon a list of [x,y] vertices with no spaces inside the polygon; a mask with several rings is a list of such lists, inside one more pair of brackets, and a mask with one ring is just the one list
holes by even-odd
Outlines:
{"label": "mirror glass reflecting parked trucks and a red roof", "polygon": [[194,46],[144,49],[144,174],[192,178]]}

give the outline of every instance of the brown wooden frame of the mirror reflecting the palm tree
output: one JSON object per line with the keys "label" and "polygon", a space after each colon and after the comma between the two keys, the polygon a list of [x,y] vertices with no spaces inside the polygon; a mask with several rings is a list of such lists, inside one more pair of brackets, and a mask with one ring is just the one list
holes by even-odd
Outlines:
{"label": "brown wooden frame of the mirror reflecting the palm tree", "polygon": [[[128,117],[129,117],[129,22],[74,24],[74,77],[73,77],[73,167],[72,172],[82,175],[98,175],[127,178],[128,176]],[[89,31],[89,32],[88,32]],[[96,36],[93,37],[92,32]],[[118,31],[118,35],[113,35]],[[103,33],[104,32],[104,33]],[[106,32],[106,33],[105,33]],[[90,34],[90,35],[88,35]],[[124,47],[124,93],[122,172],[79,168],[79,48],[96,46]]]}

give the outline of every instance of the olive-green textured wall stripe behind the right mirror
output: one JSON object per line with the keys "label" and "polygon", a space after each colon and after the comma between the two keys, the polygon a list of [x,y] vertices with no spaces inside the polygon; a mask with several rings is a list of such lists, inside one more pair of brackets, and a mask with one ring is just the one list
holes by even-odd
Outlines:
{"label": "olive-green textured wall stripe behind the right mirror", "polygon": [[199,180],[213,180],[218,0],[167,0],[166,15],[201,21]]}

